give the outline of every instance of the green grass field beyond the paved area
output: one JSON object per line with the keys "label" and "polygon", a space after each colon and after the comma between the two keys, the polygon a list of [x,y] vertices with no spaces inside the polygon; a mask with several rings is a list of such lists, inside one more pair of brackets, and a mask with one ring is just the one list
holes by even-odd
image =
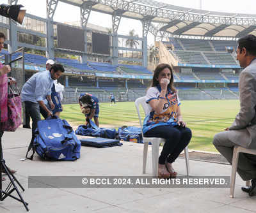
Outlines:
{"label": "green grass field beyond the paved area", "polygon": [[[71,124],[84,123],[84,115],[78,104],[64,105],[61,118]],[[182,101],[183,120],[193,136],[189,149],[216,151],[212,145],[213,136],[232,124],[239,112],[238,100]],[[110,106],[100,103],[99,122],[103,127],[140,126],[133,102],[119,102]]]}

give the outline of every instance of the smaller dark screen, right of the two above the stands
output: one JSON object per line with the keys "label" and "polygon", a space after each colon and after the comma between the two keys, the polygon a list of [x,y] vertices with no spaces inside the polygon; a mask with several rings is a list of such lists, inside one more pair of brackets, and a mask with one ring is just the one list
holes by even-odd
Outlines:
{"label": "smaller dark screen, right of the two above the stands", "polygon": [[92,52],[97,54],[109,55],[109,35],[92,33]]}

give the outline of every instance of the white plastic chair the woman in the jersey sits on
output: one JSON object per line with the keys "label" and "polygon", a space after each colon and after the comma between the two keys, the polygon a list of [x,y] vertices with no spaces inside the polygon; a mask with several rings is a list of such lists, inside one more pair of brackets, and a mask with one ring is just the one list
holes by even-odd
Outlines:
{"label": "white plastic chair the woman in the jersey sits on", "polygon": [[[147,116],[150,113],[148,104],[146,103],[146,97],[137,98],[135,101],[135,107],[138,112],[138,117],[140,120],[140,127],[141,133],[143,124],[141,123],[141,116],[140,116],[140,105],[143,107],[144,113]],[[148,154],[148,143],[151,142],[152,144],[152,170],[153,176],[157,177],[158,175],[158,158],[159,158],[159,145],[160,143],[164,143],[164,138],[148,138],[143,136],[144,142],[144,149],[143,149],[143,173],[146,173],[146,165],[147,165],[147,154]],[[189,155],[188,155],[188,147],[184,149],[185,152],[185,159],[186,159],[186,167],[187,167],[187,175],[189,176]]]}

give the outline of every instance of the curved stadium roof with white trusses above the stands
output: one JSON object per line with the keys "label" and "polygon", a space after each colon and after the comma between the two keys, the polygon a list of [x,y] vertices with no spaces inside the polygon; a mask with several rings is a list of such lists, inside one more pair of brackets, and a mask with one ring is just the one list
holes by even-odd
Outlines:
{"label": "curved stadium roof with white trusses above the stands", "polygon": [[[256,14],[223,13],[174,6],[153,0],[60,0],[79,7],[138,20],[161,23],[158,31],[174,35],[239,38],[256,35]],[[152,24],[151,24],[152,25]],[[156,28],[156,26],[152,25]]]}

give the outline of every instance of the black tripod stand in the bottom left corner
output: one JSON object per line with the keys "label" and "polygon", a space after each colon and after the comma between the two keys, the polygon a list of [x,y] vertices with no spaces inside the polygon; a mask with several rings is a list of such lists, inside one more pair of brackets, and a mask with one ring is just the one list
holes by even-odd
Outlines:
{"label": "black tripod stand in the bottom left corner", "polygon": [[[25,191],[25,189],[21,186],[20,182],[15,178],[13,173],[5,165],[5,160],[3,159],[3,149],[2,149],[1,139],[0,139],[0,169],[1,169],[0,170],[0,201],[3,201],[5,198],[10,196],[11,198],[23,203],[26,210],[29,211],[28,203],[24,202],[24,200],[23,200],[22,196],[20,195],[20,192],[19,192],[15,182],[17,182],[17,184],[20,186],[22,191]],[[7,175],[6,177],[8,177],[8,179],[10,179],[10,183],[8,184],[8,186],[6,187],[5,190],[2,189],[2,187],[3,187],[3,185],[2,185],[2,172],[6,173],[6,175]],[[19,197],[11,195],[13,193],[13,191],[16,191],[17,194],[19,195]]]}

